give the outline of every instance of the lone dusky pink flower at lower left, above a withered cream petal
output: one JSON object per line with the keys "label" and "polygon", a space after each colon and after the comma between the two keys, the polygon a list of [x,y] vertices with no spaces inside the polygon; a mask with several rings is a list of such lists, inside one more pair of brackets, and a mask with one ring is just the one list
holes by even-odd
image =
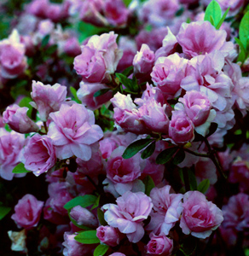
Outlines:
{"label": "lone dusky pink flower at lower left, above a withered cream petal", "polygon": [[24,195],[14,207],[11,216],[20,228],[31,229],[38,225],[43,210],[43,201],[38,201],[33,195]]}

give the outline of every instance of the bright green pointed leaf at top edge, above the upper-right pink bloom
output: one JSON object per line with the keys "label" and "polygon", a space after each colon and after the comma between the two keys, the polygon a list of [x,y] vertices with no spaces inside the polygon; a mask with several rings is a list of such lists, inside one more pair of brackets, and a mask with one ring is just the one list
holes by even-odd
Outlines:
{"label": "bright green pointed leaf at top edge, above the upper-right pink bloom", "polygon": [[204,16],[204,20],[211,22],[213,26],[217,26],[222,17],[222,9],[219,4],[213,0],[208,4]]}

